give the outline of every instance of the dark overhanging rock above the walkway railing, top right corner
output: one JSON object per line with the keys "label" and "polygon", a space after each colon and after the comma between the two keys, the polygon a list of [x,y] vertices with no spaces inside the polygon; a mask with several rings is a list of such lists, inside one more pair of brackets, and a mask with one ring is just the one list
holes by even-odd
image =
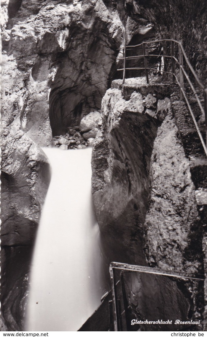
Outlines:
{"label": "dark overhanging rock above the walkway railing, top right corner", "polygon": [[161,38],[182,41],[199,77],[206,82],[206,1],[125,0],[129,16],[152,22]]}

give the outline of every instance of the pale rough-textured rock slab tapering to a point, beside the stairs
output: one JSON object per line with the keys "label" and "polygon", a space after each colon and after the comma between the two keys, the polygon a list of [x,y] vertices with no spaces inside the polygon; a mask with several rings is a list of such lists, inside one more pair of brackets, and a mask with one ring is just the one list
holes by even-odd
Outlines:
{"label": "pale rough-textured rock slab tapering to a point, beside the stairs", "polygon": [[146,253],[151,266],[196,272],[201,268],[202,231],[189,160],[177,132],[168,115],[154,142]]}

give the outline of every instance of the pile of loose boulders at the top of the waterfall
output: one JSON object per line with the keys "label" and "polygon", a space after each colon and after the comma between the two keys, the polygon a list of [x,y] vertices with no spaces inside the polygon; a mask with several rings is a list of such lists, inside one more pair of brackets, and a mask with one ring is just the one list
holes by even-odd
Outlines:
{"label": "pile of loose boulders at the top of the waterfall", "polygon": [[82,118],[80,126],[68,127],[66,134],[54,136],[53,145],[62,150],[84,149],[91,146],[101,124],[101,114],[98,111],[91,112]]}

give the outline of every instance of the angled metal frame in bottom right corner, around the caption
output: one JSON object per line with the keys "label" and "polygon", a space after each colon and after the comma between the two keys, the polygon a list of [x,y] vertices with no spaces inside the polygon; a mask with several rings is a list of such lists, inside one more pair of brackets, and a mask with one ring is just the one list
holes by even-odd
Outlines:
{"label": "angled metal frame in bottom right corner, around the caption", "polygon": [[[119,272],[119,277],[117,277],[117,272]],[[124,284],[124,274],[127,272],[139,272],[147,274],[155,274],[161,276],[172,277],[173,279],[182,280],[198,280],[204,281],[204,275],[192,274],[182,271],[166,271],[158,268],[137,266],[123,264],[119,262],[111,262],[109,267],[110,279],[111,279],[111,292],[112,292],[112,316],[113,316],[113,329],[114,331],[125,331],[123,326],[126,326],[127,331],[130,331],[130,318],[127,315],[128,312],[128,301],[126,296],[126,289]],[[117,281],[117,279],[119,280]],[[120,282],[121,285],[121,295],[117,293],[117,285]],[[120,298],[122,297],[123,308],[120,305]],[[123,322],[124,320],[124,322]],[[124,323],[124,324],[123,324]]]}

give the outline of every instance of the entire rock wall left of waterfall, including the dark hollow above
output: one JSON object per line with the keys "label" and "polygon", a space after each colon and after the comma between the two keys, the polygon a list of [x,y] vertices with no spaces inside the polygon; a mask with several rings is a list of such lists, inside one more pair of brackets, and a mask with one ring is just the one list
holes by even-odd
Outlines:
{"label": "entire rock wall left of waterfall, including the dark hollow above", "polygon": [[135,30],[121,2],[1,2],[1,301],[11,330],[22,329],[30,259],[13,276],[12,266],[21,265],[22,247],[30,256],[49,184],[39,146],[51,146],[52,136],[100,109],[117,48],[139,32],[143,39],[148,25],[143,20]]}

